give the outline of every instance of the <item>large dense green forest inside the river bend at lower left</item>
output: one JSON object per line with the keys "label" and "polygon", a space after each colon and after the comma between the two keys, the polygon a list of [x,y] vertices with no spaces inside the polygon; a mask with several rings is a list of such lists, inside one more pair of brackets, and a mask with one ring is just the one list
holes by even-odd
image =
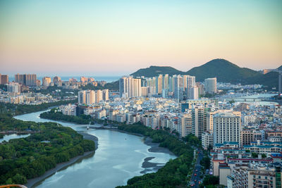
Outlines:
{"label": "large dense green forest inside the river bend at lower left", "polygon": [[95,144],[83,140],[70,127],[57,123],[25,122],[0,115],[0,130],[32,130],[37,133],[21,139],[11,139],[0,145],[0,184],[25,184],[39,177],[57,163],[69,161],[85,151],[94,151]]}

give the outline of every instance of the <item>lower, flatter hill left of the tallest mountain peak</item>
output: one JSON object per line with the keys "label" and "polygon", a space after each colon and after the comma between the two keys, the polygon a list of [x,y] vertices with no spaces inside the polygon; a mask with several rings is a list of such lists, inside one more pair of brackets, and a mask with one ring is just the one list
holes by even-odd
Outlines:
{"label": "lower, flatter hill left of the tallest mountain peak", "polygon": [[169,66],[150,66],[149,68],[141,68],[137,70],[135,73],[132,73],[134,77],[154,77],[157,75],[183,75],[185,72],[177,70],[175,68]]}

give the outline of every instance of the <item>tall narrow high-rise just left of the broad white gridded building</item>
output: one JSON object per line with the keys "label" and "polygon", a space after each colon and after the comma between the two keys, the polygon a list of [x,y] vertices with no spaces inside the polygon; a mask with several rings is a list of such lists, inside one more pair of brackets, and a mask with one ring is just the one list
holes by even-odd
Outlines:
{"label": "tall narrow high-rise just left of the broad white gridded building", "polygon": [[202,106],[192,108],[192,134],[198,138],[208,129],[209,111],[210,108]]}

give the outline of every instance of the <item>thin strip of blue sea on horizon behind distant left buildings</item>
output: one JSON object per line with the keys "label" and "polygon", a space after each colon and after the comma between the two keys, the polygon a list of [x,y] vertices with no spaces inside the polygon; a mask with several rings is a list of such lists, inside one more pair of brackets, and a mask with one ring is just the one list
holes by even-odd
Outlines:
{"label": "thin strip of blue sea on horizon behind distant left buildings", "polygon": [[[37,76],[37,80],[40,80],[42,82],[42,77],[44,77],[44,76]],[[80,81],[80,76],[62,76],[61,80],[68,81],[72,77],[77,79],[78,81]],[[104,80],[106,82],[115,82],[121,76],[85,76],[85,77],[94,77],[95,81],[102,81],[102,80]],[[9,81],[10,82],[13,82],[14,80],[15,80],[14,76],[9,76]],[[51,80],[53,80],[53,77],[51,77]]]}

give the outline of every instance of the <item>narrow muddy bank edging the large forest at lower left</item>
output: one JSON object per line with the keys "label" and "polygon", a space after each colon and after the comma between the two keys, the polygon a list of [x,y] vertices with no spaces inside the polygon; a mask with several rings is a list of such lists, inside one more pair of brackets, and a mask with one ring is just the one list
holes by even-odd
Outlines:
{"label": "narrow muddy bank edging the large forest at lower left", "polygon": [[[78,132],[79,134],[82,134],[83,139],[89,139],[95,142],[95,150],[98,148],[98,138],[87,134],[85,132]],[[65,163],[59,163],[56,165],[55,168],[52,168],[44,173],[44,175],[32,178],[30,180],[27,180],[27,183],[25,184],[26,187],[33,187],[35,184],[38,184],[39,182],[42,182],[42,180],[46,179],[47,177],[54,175],[57,171],[63,170],[64,168],[67,168],[69,165],[73,165],[73,163],[76,163],[78,161],[81,161],[83,158],[87,158],[89,156],[94,155],[94,151],[87,151],[82,156],[76,156],[74,158],[71,158],[70,161],[67,161]]]}

